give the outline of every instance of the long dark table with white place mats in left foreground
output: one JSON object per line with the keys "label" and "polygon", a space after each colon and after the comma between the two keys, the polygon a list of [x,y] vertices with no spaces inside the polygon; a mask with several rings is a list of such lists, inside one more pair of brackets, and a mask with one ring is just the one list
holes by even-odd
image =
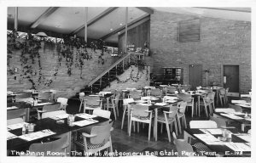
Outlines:
{"label": "long dark table with white place mats in left foreground", "polygon": [[[101,116],[91,116],[88,114],[74,115],[73,123],[68,121],[68,114],[56,115],[53,117],[44,118],[38,121],[32,121],[34,124],[33,132],[26,132],[22,134],[22,126],[24,123],[30,124],[31,122],[22,122],[21,124],[14,124],[7,126],[8,138],[7,149],[28,149],[32,143],[41,143],[47,141],[49,138],[68,134],[69,146],[67,148],[67,155],[71,154],[72,133],[84,129],[84,127],[96,125],[104,121],[109,121],[107,118]],[[60,122],[61,120],[61,122]]]}

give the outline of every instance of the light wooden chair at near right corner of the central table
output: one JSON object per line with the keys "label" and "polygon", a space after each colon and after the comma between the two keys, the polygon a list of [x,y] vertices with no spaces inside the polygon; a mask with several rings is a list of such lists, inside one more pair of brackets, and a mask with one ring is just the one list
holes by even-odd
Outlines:
{"label": "light wooden chair at near right corner of the central table", "polygon": [[161,133],[163,132],[163,124],[166,124],[166,131],[168,134],[169,142],[171,142],[169,125],[171,126],[171,131],[172,131],[172,125],[174,124],[175,132],[177,133],[176,116],[177,116],[177,105],[176,106],[171,105],[169,111],[163,111],[163,114],[161,115],[159,114],[157,116],[157,122],[161,123]]}

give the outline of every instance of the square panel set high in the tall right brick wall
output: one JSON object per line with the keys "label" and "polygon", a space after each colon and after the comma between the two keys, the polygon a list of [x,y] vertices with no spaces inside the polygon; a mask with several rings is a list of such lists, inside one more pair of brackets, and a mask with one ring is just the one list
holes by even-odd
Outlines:
{"label": "square panel set high in the tall right brick wall", "polygon": [[178,24],[179,42],[200,41],[200,20],[182,20]]}

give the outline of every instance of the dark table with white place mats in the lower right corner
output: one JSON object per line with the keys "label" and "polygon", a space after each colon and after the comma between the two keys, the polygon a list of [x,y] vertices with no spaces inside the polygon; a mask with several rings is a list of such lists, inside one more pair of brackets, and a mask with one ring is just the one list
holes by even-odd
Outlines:
{"label": "dark table with white place mats in the lower right corner", "polygon": [[[224,130],[230,132],[230,138],[224,138]],[[251,156],[251,135],[240,133],[236,128],[186,128],[184,140],[189,138],[206,145],[214,156]]]}

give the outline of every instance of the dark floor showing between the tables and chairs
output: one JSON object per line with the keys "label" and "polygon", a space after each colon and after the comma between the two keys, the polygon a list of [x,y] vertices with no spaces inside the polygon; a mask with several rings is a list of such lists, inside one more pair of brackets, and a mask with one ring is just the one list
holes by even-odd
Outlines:
{"label": "dark floor showing between the tables and chairs", "polygon": [[[131,153],[137,153],[134,155],[157,155],[163,156],[162,154],[166,152],[171,152],[171,155],[164,156],[176,156],[172,155],[176,151],[176,147],[173,143],[169,143],[167,132],[163,130],[163,133],[160,133],[160,127],[158,132],[158,141],[155,141],[153,138],[153,130],[151,132],[150,141],[148,141],[148,125],[145,125],[144,129],[141,126],[140,132],[131,132],[131,137],[129,137],[127,132],[127,117],[125,117],[124,128],[121,129],[121,120],[122,120],[122,108],[119,108],[120,113],[116,121],[113,122],[113,132],[111,133],[113,141],[113,152],[121,152],[121,155],[131,155]],[[79,112],[79,100],[69,99],[67,106],[67,113],[76,114]],[[189,126],[189,121],[191,120],[207,120],[204,117],[191,118],[190,113],[187,115],[187,124]],[[113,115],[111,116],[114,119]],[[183,134],[177,136],[177,138],[183,138]],[[172,139],[173,140],[173,139]]]}

